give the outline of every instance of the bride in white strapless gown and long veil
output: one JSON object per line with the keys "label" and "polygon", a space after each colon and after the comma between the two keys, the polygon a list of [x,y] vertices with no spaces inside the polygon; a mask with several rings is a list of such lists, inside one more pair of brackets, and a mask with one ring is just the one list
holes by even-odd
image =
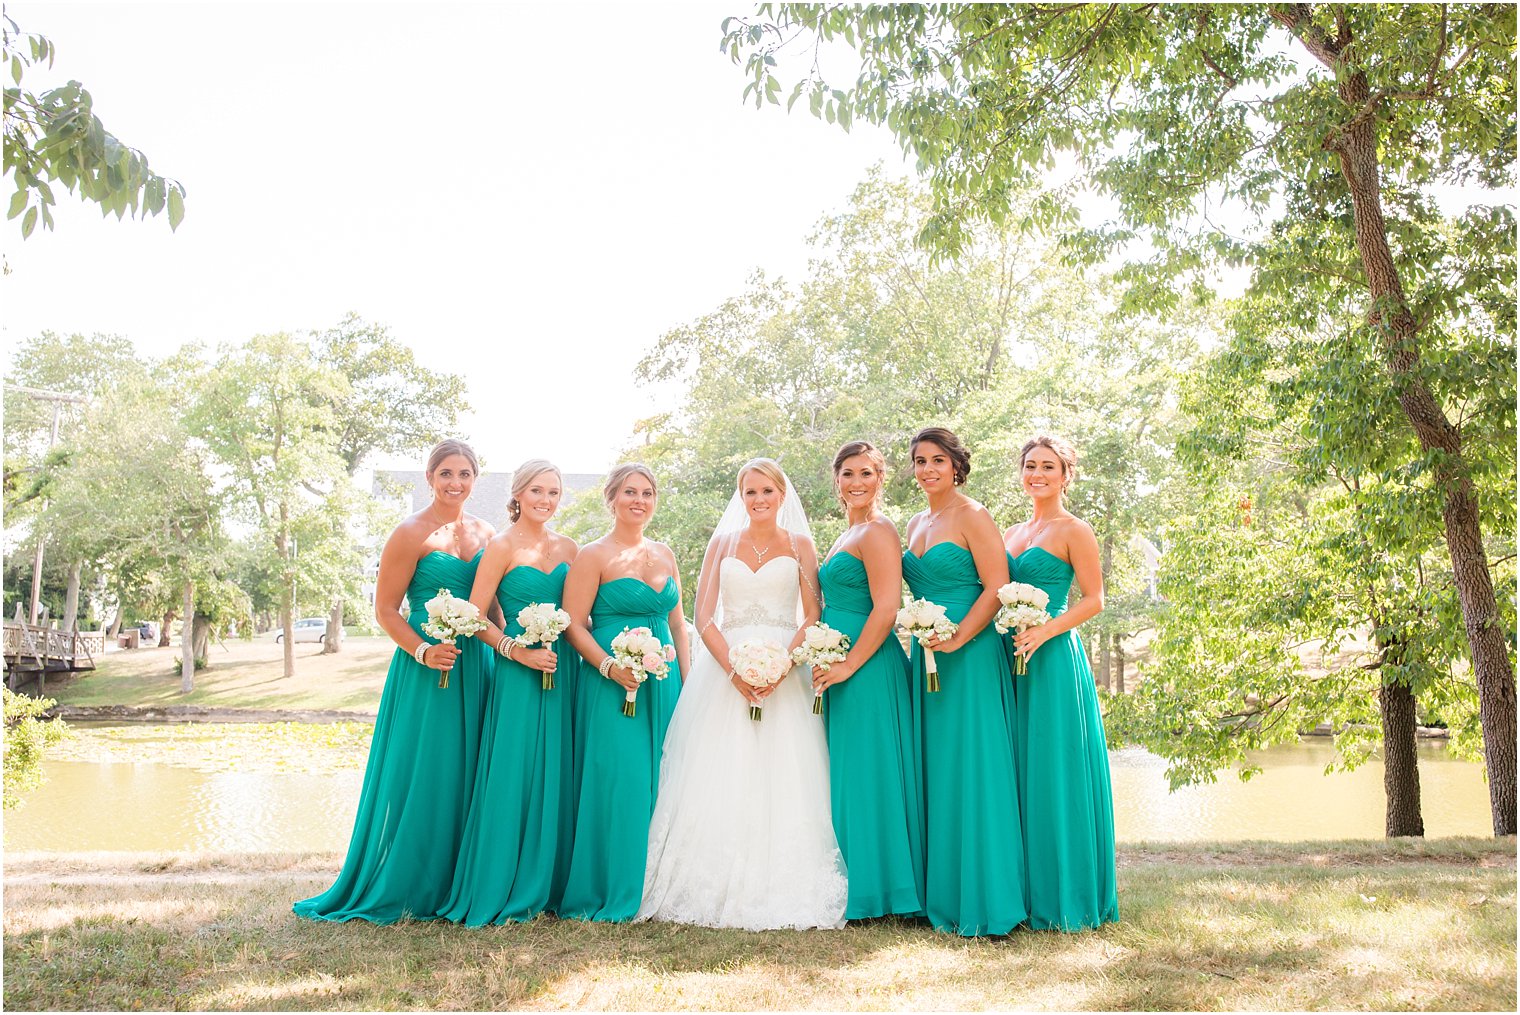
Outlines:
{"label": "bride in white strapless gown and long veil", "polygon": [[[818,556],[790,482],[771,459],[746,462],[702,559],[702,647],[666,734],[638,919],[844,927],[845,868],[810,670],[754,688],[727,662],[740,641],[790,653],[818,620],[816,590]],[[760,722],[749,717],[755,704]]]}

